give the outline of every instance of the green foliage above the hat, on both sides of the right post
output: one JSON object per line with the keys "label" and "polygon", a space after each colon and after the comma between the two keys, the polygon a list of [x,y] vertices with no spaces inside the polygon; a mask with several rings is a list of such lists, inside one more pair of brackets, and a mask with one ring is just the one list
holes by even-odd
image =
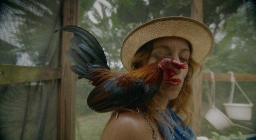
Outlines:
{"label": "green foliage above the hat, on both sides of the right post", "polygon": [[[125,70],[120,62],[120,46],[133,28],[153,18],[190,17],[191,0],[106,1],[81,0],[80,26],[96,36],[110,67],[116,70]],[[256,34],[252,31],[255,21],[251,3],[247,0],[204,0],[203,7],[204,23],[211,27],[216,38],[213,51],[203,61],[203,71],[255,73],[253,44]]]}

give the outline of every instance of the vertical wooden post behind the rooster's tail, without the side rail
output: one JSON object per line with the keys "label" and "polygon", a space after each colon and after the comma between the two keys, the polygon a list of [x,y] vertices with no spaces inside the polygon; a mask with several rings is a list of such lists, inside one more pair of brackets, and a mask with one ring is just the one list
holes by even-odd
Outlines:
{"label": "vertical wooden post behind the rooster's tail, without the side rail", "polygon": [[[78,25],[79,0],[63,0],[63,26]],[[73,65],[66,56],[66,50],[71,47],[69,40],[73,33],[62,32],[61,60],[62,78],[59,86],[59,131],[58,139],[75,139],[76,122],[76,75],[70,70]]]}

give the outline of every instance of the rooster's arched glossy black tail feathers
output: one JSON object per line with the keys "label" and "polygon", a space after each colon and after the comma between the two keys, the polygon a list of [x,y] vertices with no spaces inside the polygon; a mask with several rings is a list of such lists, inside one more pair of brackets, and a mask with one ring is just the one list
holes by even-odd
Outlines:
{"label": "rooster's arched glossy black tail feathers", "polygon": [[69,48],[66,54],[76,64],[71,67],[71,70],[78,74],[79,78],[91,79],[93,76],[89,75],[90,72],[97,69],[110,69],[104,50],[90,32],[74,25],[67,25],[59,30],[74,33],[70,42],[75,49]]}

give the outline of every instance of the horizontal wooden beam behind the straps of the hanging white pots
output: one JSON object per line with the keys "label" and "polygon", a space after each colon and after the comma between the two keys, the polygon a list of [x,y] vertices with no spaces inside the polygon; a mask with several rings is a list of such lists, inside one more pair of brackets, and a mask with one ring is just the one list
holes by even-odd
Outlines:
{"label": "horizontal wooden beam behind the straps of the hanging white pots", "polygon": [[[236,81],[256,81],[256,74],[238,74],[234,73]],[[229,73],[214,73],[215,81],[230,81]],[[202,80],[211,80],[210,73],[203,73]]]}

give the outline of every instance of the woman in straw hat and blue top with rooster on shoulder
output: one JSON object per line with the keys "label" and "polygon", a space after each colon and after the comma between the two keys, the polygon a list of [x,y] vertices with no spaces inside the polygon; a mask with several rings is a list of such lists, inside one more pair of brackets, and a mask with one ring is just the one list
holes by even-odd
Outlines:
{"label": "woman in straw hat and blue top with rooster on shoulder", "polygon": [[[157,94],[145,105],[112,115],[101,139],[194,139],[186,124],[192,119],[192,77],[212,50],[214,37],[203,23],[187,17],[164,17],[132,30],[121,46],[121,60],[128,70],[168,55],[186,62],[169,81],[163,80]],[[182,120],[178,115],[182,116]]]}

